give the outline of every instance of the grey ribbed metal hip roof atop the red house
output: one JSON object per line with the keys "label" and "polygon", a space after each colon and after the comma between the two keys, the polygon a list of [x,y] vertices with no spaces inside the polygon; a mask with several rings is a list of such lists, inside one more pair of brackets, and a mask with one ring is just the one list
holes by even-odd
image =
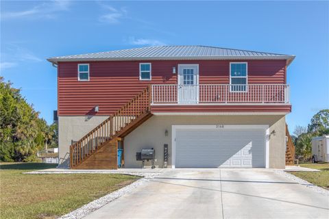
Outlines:
{"label": "grey ribbed metal hip roof atop the red house", "polygon": [[241,49],[207,46],[158,46],[123,49],[82,55],[50,57],[49,62],[114,61],[114,60],[287,60],[290,64],[295,55],[265,53]]}

